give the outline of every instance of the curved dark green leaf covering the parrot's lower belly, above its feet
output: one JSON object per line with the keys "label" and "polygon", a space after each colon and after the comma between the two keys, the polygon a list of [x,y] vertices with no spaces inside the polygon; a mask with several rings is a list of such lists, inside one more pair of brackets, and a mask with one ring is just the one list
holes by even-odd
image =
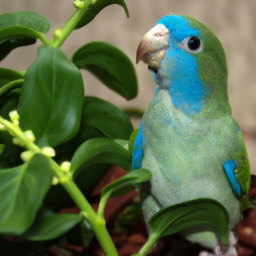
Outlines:
{"label": "curved dark green leaf covering the parrot's lower belly, above its feet", "polygon": [[229,216],[222,204],[197,199],[161,209],[149,220],[150,236],[166,236],[189,227],[211,227],[222,243],[229,242]]}

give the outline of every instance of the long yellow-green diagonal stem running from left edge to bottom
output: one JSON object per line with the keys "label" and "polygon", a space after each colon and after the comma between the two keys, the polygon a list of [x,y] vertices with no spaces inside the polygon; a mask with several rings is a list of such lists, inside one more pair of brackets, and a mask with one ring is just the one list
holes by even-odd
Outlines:
{"label": "long yellow-green diagonal stem running from left edge to bottom", "polygon": [[[29,140],[26,136],[26,133],[22,132],[19,127],[18,119],[19,115],[16,111],[14,111],[14,115],[10,114],[12,122],[3,119],[0,117],[0,124],[5,127],[9,133],[18,138],[21,141],[22,145],[30,150],[32,153],[44,153],[43,149],[39,148],[37,145]],[[14,117],[13,117],[14,116]],[[113,241],[106,229],[105,219],[102,215],[97,214],[89,202],[86,200],[82,192],[79,190],[75,182],[72,180],[72,174],[70,172],[63,172],[61,166],[59,166],[51,157],[48,157],[54,175],[57,176],[62,186],[69,193],[71,198],[74,200],[76,205],[83,212],[84,217],[88,220],[89,224],[93,228],[93,231],[105,253],[107,256],[118,256],[116,248],[113,244]]]}

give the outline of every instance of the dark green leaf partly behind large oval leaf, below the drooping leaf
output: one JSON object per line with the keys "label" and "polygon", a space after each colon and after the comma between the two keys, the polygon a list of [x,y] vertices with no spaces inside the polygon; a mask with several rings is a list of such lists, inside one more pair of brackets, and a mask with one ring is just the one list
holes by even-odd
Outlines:
{"label": "dark green leaf partly behind large oval leaf, below the drooping leaf", "polygon": [[98,129],[111,139],[128,140],[133,127],[128,116],[113,104],[96,97],[85,97],[83,124]]}

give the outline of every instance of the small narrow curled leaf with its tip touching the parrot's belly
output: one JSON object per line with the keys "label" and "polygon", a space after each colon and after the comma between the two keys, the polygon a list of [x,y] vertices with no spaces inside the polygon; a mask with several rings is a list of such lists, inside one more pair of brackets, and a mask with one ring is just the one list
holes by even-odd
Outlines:
{"label": "small narrow curled leaf with its tip touching the parrot's belly", "polygon": [[133,170],[132,172],[104,187],[101,191],[101,198],[105,197],[106,195],[108,195],[108,197],[120,196],[127,191],[130,191],[133,184],[145,182],[149,180],[151,176],[151,172],[147,169]]}

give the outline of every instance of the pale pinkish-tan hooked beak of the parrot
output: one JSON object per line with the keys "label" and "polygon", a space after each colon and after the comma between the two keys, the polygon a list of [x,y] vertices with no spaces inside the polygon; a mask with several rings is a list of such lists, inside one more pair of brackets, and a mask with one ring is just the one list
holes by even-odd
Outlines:
{"label": "pale pinkish-tan hooked beak of the parrot", "polygon": [[160,68],[168,44],[169,30],[162,24],[157,24],[142,38],[137,49],[136,63],[140,60],[152,68]]}

